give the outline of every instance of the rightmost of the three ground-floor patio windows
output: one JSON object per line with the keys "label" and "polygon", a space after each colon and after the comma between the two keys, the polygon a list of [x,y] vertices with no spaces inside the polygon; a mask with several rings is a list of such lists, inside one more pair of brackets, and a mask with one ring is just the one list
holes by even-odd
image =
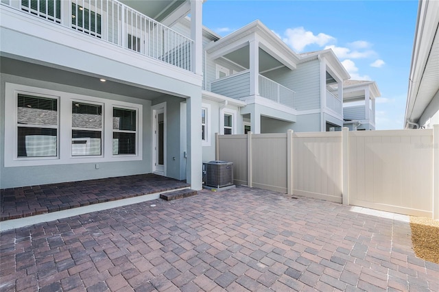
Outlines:
{"label": "rightmost of the three ground-floor patio windows", "polygon": [[112,109],[112,154],[136,154],[137,110]]}

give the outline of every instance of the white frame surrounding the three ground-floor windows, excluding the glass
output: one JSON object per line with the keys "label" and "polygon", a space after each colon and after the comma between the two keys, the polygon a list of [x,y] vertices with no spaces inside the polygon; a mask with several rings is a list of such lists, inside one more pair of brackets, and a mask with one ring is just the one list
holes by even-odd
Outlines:
{"label": "white frame surrounding the three ground-floor windows, excluding the glass", "polygon": [[[57,157],[32,157],[19,158],[17,156],[17,105],[18,93],[27,95],[37,95],[46,97],[58,97],[58,149]],[[71,155],[71,131],[72,131],[72,109],[73,101],[80,101],[91,104],[103,104],[103,148],[102,156],[72,156]],[[137,110],[137,134],[136,134],[136,154],[112,155],[112,108],[128,108]],[[115,101],[66,93],[58,90],[25,86],[21,84],[5,83],[5,112],[13,113],[14,117],[5,119],[5,141],[4,143],[4,164],[5,167],[24,167],[37,165],[67,165],[76,163],[93,162],[119,162],[143,160],[143,105],[134,104],[126,101]],[[8,116],[9,117],[9,116]]]}

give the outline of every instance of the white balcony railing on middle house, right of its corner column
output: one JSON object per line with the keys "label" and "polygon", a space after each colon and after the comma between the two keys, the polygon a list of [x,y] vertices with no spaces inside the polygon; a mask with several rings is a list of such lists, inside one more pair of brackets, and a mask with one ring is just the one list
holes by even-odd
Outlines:
{"label": "white balcony railing on middle house, right of its corner column", "polygon": [[278,104],[295,108],[294,97],[296,93],[263,75],[259,75],[259,95],[266,99],[276,101]]}

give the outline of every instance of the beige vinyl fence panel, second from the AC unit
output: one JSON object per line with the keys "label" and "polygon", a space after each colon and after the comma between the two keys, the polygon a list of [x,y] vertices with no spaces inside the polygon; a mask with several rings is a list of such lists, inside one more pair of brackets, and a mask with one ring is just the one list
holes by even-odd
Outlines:
{"label": "beige vinyl fence panel, second from the AC unit", "polygon": [[287,135],[252,135],[253,186],[287,193]]}

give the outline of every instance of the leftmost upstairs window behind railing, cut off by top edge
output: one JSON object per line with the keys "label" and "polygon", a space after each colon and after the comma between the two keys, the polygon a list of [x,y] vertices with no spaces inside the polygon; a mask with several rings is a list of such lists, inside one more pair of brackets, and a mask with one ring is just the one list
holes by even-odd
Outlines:
{"label": "leftmost upstairs window behind railing, cut off by top edge", "polygon": [[61,0],[21,0],[21,10],[56,23],[61,22]]}

